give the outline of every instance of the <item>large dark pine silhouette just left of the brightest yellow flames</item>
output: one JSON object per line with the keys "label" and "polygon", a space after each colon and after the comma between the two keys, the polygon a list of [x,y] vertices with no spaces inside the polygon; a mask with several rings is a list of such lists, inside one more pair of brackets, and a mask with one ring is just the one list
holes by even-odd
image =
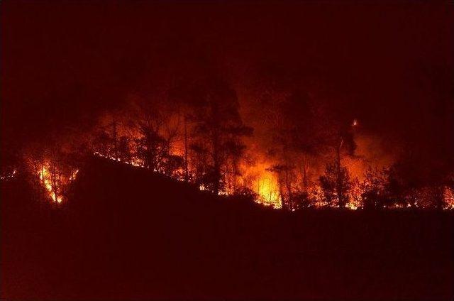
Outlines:
{"label": "large dark pine silhouette just left of the brightest yellow flames", "polygon": [[223,80],[199,82],[192,97],[196,182],[217,195],[226,188],[229,165],[235,182],[245,149],[241,137],[250,135],[252,128],[243,124],[236,92]]}

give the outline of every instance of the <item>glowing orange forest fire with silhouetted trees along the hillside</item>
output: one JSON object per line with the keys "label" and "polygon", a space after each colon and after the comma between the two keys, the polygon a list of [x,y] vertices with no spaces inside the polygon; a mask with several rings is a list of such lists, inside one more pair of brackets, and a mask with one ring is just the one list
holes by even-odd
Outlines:
{"label": "glowing orange forest fire with silhouetted trees along the hillside", "polygon": [[[290,212],[309,207],[454,209],[448,176],[441,179],[444,182],[440,185],[406,187],[397,174],[398,165],[394,166],[392,160],[375,159],[377,154],[371,151],[373,139],[350,129],[330,131],[328,136],[322,132],[321,138],[326,141],[318,143],[326,146],[320,148],[321,155],[298,149],[287,151],[289,146],[284,144],[284,148],[274,141],[270,149],[257,144],[248,148],[248,143],[242,140],[248,129],[241,123],[232,128],[220,127],[216,129],[218,136],[213,136],[199,131],[199,127],[207,126],[206,119],[197,121],[198,124],[196,121],[178,124],[175,120],[180,112],[169,111],[166,116],[145,114],[146,122],[138,114],[128,116],[127,110],[104,114],[101,124],[87,135],[86,151],[189,182],[199,190],[229,197],[243,195],[264,206]],[[166,126],[167,122],[171,126]],[[352,127],[358,126],[357,119],[350,122]],[[288,139],[282,137],[280,129],[273,131],[276,139]],[[306,143],[304,139],[284,143],[300,147]],[[35,159],[33,156],[28,159],[48,197],[57,204],[63,202],[67,186],[79,171],[77,163],[74,165],[78,155],[68,153],[69,149],[44,150],[35,154]],[[371,159],[375,160],[374,167]]]}

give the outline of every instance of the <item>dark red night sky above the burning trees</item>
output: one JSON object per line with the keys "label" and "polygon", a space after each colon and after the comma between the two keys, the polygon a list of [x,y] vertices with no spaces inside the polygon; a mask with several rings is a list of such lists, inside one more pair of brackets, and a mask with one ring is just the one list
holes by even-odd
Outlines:
{"label": "dark red night sky above the burning trees", "polygon": [[365,130],[452,149],[453,5],[2,1],[0,22],[3,141],[88,127],[203,60],[241,90],[263,65],[317,80]]}

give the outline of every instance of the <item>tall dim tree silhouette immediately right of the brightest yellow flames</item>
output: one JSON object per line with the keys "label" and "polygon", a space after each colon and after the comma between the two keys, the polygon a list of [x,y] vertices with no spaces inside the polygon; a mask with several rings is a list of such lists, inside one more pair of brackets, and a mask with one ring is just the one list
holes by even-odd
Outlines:
{"label": "tall dim tree silhouette immediately right of the brightest yellow flames", "polygon": [[287,75],[284,80],[275,80],[272,75],[277,71],[269,72],[259,96],[271,133],[267,155],[273,163],[267,170],[277,177],[282,208],[293,211],[297,203],[309,205],[309,170],[319,146],[316,106],[297,78]]}

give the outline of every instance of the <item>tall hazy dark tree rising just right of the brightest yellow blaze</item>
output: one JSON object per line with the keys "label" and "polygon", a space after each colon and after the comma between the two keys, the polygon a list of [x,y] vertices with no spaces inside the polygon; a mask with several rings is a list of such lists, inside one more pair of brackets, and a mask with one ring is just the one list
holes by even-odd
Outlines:
{"label": "tall hazy dark tree rising just right of the brightest yellow blaze", "polygon": [[[289,209],[289,198],[305,199],[312,183],[311,168],[316,158],[326,151],[326,132],[321,99],[316,99],[316,85],[304,80],[299,72],[289,72],[277,66],[265,66],[263,82],[259,84],[263,120],[270,132],[268,154],[284,184],[283,209]],[[331,129],[331,128],[330,128]],[[330,132],[331,133],[331,132]],[[287,204],[287,205],[286,205]]]}

